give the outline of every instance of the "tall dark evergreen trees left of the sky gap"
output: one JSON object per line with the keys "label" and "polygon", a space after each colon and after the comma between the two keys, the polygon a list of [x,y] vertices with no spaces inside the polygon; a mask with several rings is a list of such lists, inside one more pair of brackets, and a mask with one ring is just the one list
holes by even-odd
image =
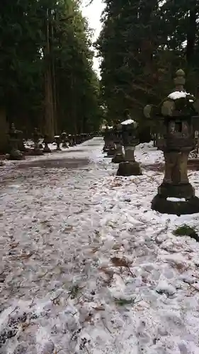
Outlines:
{"label": "tall dark evergreen trees left of the sky gap", "polygon": [[1,144],[11,122],[51,139],[98,130],[100,86],[81,1],[1,0],[0,29]]}

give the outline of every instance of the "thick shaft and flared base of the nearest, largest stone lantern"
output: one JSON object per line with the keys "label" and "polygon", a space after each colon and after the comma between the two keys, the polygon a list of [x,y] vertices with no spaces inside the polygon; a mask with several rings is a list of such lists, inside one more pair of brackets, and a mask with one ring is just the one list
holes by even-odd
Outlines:
{"label": "thick shaft and flared base of the nearest, largest stone lantern", "polygon": [[187,176],[188,154],[189,151],[164,152],[164,180],[158,188],[158,194],[152,200],[153,210],[175,215],[199,212],[199,199],[195,197],[195,190]]}

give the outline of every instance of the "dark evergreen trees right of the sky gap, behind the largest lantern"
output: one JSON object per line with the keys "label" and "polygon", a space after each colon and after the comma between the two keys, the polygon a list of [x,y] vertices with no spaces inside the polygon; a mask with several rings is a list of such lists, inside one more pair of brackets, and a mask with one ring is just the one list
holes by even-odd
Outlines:
{"label": "dark evergreen trees right of the sky gap, behind the largest lantern", "polygon": [[104,0],[101,35],[101,93],[109,122],[144,122],[143,107],[174,89],[177,69],[186,89],[198,96],[199,1]]}

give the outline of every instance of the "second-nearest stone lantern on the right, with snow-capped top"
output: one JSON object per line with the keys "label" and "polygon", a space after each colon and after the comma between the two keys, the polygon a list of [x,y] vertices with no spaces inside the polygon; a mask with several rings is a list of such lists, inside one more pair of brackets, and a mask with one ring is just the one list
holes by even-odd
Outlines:
{"label": "second-nearest stone lantern on the right, with snow-capped top", "polygon": [[122,139],[125,150],[125,161],[120,162],[117,176],[139,176],[142,175],[140,164],[135,161],[135,147],[140,143],[137,122],[127,119],[121,122]]}

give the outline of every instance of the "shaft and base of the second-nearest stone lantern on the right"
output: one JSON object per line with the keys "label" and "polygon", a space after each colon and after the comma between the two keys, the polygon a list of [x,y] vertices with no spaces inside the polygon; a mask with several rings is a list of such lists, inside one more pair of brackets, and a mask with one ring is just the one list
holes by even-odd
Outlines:
{"label": "shaft and base of the second-nearest stone lantern on the right", "polygon": [[118,167],[117,176],[140,176],[142,170],[140,164],[135,161],[135,146],[125,147],[125,162],[121,162]]}

